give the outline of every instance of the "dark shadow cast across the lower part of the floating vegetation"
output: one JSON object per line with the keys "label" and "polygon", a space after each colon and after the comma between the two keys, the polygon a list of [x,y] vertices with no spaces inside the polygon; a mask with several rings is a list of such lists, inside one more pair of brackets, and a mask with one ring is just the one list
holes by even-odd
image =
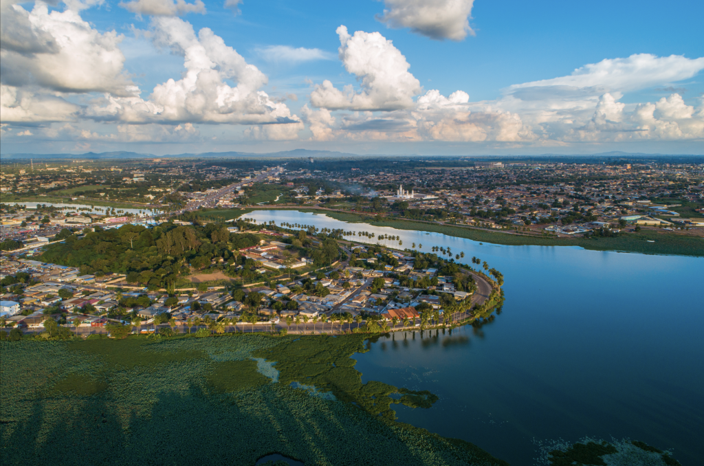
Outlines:
{"label": "dark shadow cast across the lower part of the floating vegetation", "polygon": [[444,464],[476,448],[425,431],[409,443],[415,434],[396,424],[277,384],[152,396],[148,404],[144,393],[134,394],[134,405],[109,396],[25,400],[0,425],[2,464],[299,466],[344,458],[348,465],[431,465],[426,449]]}

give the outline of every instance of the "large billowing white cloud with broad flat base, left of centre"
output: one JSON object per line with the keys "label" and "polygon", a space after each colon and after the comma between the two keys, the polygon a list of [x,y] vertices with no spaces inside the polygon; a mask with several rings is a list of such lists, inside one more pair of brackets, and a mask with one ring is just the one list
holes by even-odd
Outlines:
{"label": "large billowing white cloud with broad flat base, left of centre", "polygon": [[212,30],[203,27],[196,34],[190,23],[175,17],[153,18],[152,27],[156,44],[184,57],[182,78],[158,84],[146,100],[138,89],[130,97],[106,94],[106,103],[89,108],[89,116],[120,122],[298,122],[284,103],[259,90],[267,83],[264,73]]}

